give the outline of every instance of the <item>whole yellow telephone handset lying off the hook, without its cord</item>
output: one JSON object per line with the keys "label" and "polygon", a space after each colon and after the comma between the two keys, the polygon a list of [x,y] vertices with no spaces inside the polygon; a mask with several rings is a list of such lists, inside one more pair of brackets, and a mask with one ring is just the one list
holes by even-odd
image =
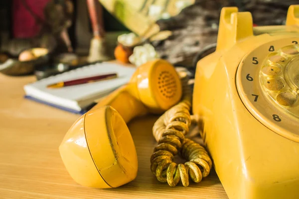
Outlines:
{"label": "whole yellow telephone handset lying off the hook, without its cord", "polygon": [[167,110],[181,95],[179,76],[167,61],[140,66],[127,85],[82,115],[66,133],[59,152],[70,176],[93,188],[115,188],[134,180],[138,161],[126,123]]}

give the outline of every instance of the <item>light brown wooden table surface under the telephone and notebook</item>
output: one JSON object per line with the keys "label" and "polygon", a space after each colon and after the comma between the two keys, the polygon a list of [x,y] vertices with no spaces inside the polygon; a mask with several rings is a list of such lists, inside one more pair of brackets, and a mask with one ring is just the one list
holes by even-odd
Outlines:
{"label": "light brown wooden table surface under the telephone and notebook", "polygon": [[61,161],[58,146],[80,116],[24,99],[23,85],[33,76],[0,74],[0,199],[227,199],[215,173],[189,187],[171,188],[150,172],[156,142],[151,127],[156,116],[128,124],[139,162],[138,177],[115,189],[91,189],[76,184]]}

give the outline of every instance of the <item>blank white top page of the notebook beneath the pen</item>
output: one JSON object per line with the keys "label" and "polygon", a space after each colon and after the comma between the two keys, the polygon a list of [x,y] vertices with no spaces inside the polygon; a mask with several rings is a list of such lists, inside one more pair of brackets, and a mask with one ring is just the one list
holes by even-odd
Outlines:
{"label": "blank white top page of the notebook beneath the pen", "polygon": [[[123,66],[117,63],[96,63],[28,84],[24,87],[24,89],[26,91],[26,87],[30,87],[31,92],[32,89],[38,90],[39,99],[43,98],[41,93],[45,93],[45,96],[51,95],[65,100],[86,100],[89,97],[93,98],[97,95],[101,95],[102,93],[107,93],[107,91],[115,90],[116,88],[128,83],[135,70],[136,68],[134,67]],[[48,85],[60,81],[69,81],[109,73],[117,73],[118,77],[116,79],[63,87],[59,89],[47,88]]]}

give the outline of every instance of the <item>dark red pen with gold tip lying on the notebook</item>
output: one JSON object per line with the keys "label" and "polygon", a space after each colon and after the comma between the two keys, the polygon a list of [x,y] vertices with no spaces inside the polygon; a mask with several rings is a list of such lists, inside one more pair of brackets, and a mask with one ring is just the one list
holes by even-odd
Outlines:
{"label": "dark red pen with gold tip lying on the notebook", "polygon": [[62,87],[80,85],[80,84],[87,84],[87,83],[91,83],[91,82],[98,82],[98,81],[107,80],[107,79],[114,79],[116,77],[117,77],[116,73],[111,73],[111,74],[76,79],[76,80],[71,80],[71,81],[66,81],[66,82],[58,82],[55,84],[48,85],[47,88],[51,88],[51,89],[62,88]]}

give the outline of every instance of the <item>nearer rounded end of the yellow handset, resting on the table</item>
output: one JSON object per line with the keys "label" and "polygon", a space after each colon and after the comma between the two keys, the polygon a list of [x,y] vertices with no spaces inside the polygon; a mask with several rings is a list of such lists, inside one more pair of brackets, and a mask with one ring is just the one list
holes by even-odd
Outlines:
{"label": "nearer rounded end of the yellow handset, resting on the table", "polygon": [[71,177],[82,186],[114,188],[137,176],[132,136],[110,106],[82,115],[66,133],[59,152]]}

